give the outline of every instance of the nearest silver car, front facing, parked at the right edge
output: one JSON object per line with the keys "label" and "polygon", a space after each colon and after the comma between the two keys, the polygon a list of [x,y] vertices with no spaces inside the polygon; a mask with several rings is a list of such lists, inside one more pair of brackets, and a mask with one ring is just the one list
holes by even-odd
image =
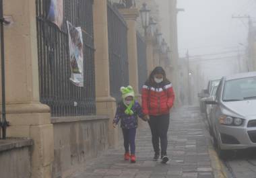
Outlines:
{"label": "nearest silver car, front facing, parked at the right edge", "polygon": [[210,122],[220,157],[226,150],[256,147],[256,72],[223,77],[215,97]]}

